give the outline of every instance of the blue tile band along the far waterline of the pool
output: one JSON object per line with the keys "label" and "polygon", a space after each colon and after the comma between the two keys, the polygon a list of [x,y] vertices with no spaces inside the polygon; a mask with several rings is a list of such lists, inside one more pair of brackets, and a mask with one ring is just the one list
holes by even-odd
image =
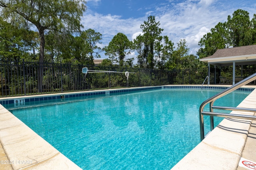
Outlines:
{"label": "blue tile band along the far waterline of the pool", "polygon": [[[215,87],[215,86],[156,86],[156,87],[147,87],[147,88],[134,88],[134,89],[122,89],[122,90],[107,90],[102,92],[84,92],[79,94],[65,94],[65,95],[58,95],[58,96],[48,96],[48,97],[32,97],[32,98],[25,98],[24,102],[36,102],[36,101],[46,101],[46,100],[54,100],[63,98],[73,98],[73,97],[82,97],[82,96],[94,96],[94,95],[101,95],[101,94],[115,94],[115,93],[122,93],[122,92],[136,92],[136,91],[143,91],[143,90],[156,90],[156,89],[222,89],[225,90],[228,87]],[[247,91],[252,92],[254,88],[238,88],[237,90],[240,91]],[[24,96],[25,97],[25,96]],[[15,102],[19,102],[20,98],[12,99],[12,100],[1,100],[0,104],[14,104]]]}

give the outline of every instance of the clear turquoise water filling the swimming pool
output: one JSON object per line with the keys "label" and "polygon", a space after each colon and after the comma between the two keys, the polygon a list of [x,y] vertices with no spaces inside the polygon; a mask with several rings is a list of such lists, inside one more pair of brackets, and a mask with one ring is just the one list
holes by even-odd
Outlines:
{"label": "clear turquoise water filling the swimming pool", "polygon": [[[85,96],[10,111],[84,170],[167,170],[200,143],[199,107],[220,91]],[[232,92],[215,105],[235,107],[249,93]]]}

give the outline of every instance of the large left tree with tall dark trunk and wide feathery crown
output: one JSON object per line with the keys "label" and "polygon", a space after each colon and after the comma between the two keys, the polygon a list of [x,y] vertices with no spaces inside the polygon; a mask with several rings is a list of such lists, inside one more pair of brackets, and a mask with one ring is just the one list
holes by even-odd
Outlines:
{"label": "large left tree with tall dark trunk and wide feathery crown", "polygon": [[34,25],[40,37],[38,91],[42,92],[46,30],[79,31],[80,17],[86,9],[84,0],[0,0],[2,16],[20,24]]}

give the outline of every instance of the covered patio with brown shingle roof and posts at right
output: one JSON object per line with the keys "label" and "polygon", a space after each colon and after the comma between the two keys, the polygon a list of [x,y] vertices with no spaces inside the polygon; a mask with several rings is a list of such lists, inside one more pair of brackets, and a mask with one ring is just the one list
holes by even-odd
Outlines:
{"label": "covered patio with brown shingle roof and posts at right", "polygon": [[[214,65],[215,73],[214,73],[214,80],[216,82],[216,66],[223,67],[223,66],[233,66],[232,71],[232,78],[222,79],[221,81],[232,82],[234,85],[235,82],[242,80],[243,72],[241,69],[240,75],[235,75],[236,66],[240,65],[243,68],[243,65],[252,65],[256,64],[256,45],[247,45],[242,47],[233,47],[227,49],[218,49],[213,55],[204,57],[200,59],[202,62],[208,63],[208,77],[210,79],[210,64]],[[208,81],[208,84],[210,82]]]}

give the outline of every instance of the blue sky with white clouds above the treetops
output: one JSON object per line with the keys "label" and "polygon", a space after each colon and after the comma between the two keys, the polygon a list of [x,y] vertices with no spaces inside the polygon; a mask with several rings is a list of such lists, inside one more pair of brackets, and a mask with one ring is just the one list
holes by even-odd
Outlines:
{"label": "blue sky with white clouds above the treetops", "polygon": [[[87,0],[86,12],[81,23],[84,30],[94,29],[102,34],[105,47],[117,33],[123,33],[130,41],[142,29],[140,25],[155,16],[160,22],[162,36],[167,35],[177,47],[181,39],[186,40],[189,54],[196,55],[198,42],[219,22],[227,21],[238,9],[250,13],[250,20],[256,14],[256,0]],[[102,59],[108,58],[104,52]],[[134,57],[136,52],[126,58]]]}

